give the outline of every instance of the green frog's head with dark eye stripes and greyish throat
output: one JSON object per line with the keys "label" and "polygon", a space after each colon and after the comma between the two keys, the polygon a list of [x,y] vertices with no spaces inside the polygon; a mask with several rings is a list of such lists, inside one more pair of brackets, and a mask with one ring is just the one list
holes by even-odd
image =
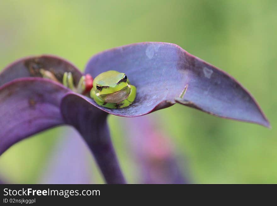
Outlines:
{"label": "green frog's head with dark eye stripes and greyish throat", "polygon": [[93,80],[96,95],[105,102],[115,103],[126,99],[130,93],[127,76],[118,71],[105,71]]}

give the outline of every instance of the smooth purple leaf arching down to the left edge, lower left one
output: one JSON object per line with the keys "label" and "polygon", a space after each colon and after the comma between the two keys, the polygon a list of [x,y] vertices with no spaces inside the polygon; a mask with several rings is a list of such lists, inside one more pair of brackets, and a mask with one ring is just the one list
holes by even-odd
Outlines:
{"label": "smooth purple leaf arching down to the left edge, lower left one", "polygon": [[69,91],[38,77],[16,79],[0,87],[0,155],[25,137],[63,124],[59,106]]}

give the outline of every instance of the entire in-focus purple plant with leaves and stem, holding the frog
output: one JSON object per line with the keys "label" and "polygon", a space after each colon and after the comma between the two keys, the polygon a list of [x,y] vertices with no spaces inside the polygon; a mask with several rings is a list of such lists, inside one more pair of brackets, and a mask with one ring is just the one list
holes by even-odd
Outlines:
{"label": "entire in-focus purple plant with leaves and stem, holding the frog", "polygon": [[0,154],[16,142],[45,129],[69,124],[87,142],[107,183],[125,183],[106,122],[108,114],[135,117],[175,103],[223,118],[270,127],[252,95],[233,77],[189,54],[178,45],[145,42],[122,46],[93,56],[85,74],[108,70],[127,74],[137,88],[134,103],[109,109],[72,92],[61,83],[41,78],[40,69],[62,82],[70,71],[74,82],[83,75],[55,56],[27,57],[0,74]]}

